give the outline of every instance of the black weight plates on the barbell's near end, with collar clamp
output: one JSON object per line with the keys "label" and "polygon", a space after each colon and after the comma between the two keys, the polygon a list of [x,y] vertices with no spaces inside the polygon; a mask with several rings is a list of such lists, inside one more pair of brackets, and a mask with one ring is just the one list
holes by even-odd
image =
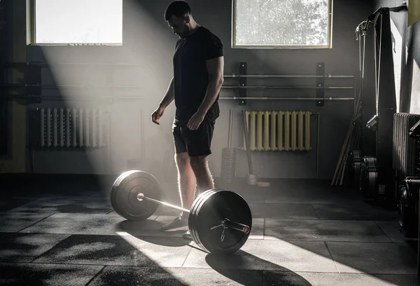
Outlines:
{"label": "black weight plates on the barbell's near end, with collar clamp", "polygon": [[[225,237],[221,241],[223,227],[213,230],[211,228],[220,225],[225,218],[231,222],[246,224],[250,231],[243,233],[235,229],[225,229]],[[191,219],[197,245],[215,254],[237,252],[248,240],[252,229],[252,214],[248,203],[238,193],[226,190],[210,193],[197,206]]]}

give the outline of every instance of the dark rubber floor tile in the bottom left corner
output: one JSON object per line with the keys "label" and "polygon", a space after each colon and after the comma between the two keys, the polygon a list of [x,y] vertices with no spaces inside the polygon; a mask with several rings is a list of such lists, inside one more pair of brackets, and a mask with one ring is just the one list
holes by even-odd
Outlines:
{"label": "dark rubber floor tile in the bottom left corner", "polygon": [[0,285],[84,286],[104,266],[60,264],[0,264]]}

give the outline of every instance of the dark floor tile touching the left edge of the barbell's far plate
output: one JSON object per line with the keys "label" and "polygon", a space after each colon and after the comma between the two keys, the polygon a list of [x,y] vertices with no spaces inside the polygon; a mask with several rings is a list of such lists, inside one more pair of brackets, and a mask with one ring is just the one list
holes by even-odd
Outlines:
{"label": "dark floor tile touching the left edge of the barbell's far plate", "polygon": [[40,198],[10,212],[103,213],[113,210],[105,198]]}

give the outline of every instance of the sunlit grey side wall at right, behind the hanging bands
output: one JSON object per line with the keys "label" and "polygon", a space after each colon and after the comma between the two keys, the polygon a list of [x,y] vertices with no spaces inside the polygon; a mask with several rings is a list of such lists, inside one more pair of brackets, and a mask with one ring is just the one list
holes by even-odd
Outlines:
{"label": "sunlit grey side wall at right, behind the hanging bands", "polygon": [[[375,9],[379,7],[398,7],[409,1],[381,0],[374,1]],[[407,9],[391,12],[391,20],[396,31],[394,53],[395,73],[400,72],[400,112],[420,114],[420,23],[408,26]],[[400,41],[398,41],[400,39]],[[398,81],[398,78],[397,78]]]}

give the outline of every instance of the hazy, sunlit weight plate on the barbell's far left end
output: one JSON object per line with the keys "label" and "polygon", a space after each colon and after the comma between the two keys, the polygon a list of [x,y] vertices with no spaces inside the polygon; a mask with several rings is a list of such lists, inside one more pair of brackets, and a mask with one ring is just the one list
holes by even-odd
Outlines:
{"label": "hazy, sunlit weight plate on the barbell's far left end", "polygon": [[155,200],[160,200],[162,197],[162,189],[153,175],[139,170],[124,172],[111,188],[113,209],[130,221],[141,221],[151,217],[159,205],[149,200],[137,200],[139,193]]}

